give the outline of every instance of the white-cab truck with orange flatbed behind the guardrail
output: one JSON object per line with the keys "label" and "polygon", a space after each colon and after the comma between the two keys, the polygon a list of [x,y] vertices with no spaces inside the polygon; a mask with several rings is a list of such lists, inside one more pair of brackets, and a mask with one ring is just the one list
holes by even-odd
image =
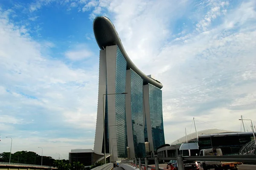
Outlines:
{"label": "white-cab truck with orange flatbed behind the guardrail", "polygon": [[[221,148],[211,148],[200,150],[199,156],[222,156]],[[242,162],[225,162],[225,161],[201,161],[201,167],[204,170],[214,168],[214,170],[238,170],[238,165]]]}

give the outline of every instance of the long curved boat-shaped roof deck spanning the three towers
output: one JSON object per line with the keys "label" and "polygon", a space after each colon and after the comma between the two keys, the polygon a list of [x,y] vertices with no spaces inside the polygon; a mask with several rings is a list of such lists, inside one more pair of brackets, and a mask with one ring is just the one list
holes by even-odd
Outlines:
{"label": "long curved boat-shaped roof deck spanning the three towers", "polygon": [[115,26],[113,25],[113,23],[111,23],[111,20],[103,16],[96,17],[93,21],[93,32],[100,49],[105,49],[106,46],[113,45],[117,45],[119,47],[125,57],[125,60],[127,61],[128,69],[132,69],[134,72],[140,75],[140,77],[143,79],[144,84],[149,83],[157,86],[160,89],[163,87],[163,84],[161,84],[157,80],[154,80],[153,78],[149,78],[142,71],[140,71],[140,69],[138,69],[138,67],[135,66],[135,64],[131,61],[131,59],[125,52],[121,39],[116,32]]}

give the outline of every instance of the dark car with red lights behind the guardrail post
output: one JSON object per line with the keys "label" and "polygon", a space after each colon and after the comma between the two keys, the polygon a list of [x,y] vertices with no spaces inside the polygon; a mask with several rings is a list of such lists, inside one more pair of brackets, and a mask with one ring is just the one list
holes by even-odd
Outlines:
{"label": "dark car with red lights behind the guardrail post", "polygon": [[[197,161],[183,161],[184,170],[199,170]],[[171,160],[167,164],[166,169],[168,170],[178,170],[177,161]]]}

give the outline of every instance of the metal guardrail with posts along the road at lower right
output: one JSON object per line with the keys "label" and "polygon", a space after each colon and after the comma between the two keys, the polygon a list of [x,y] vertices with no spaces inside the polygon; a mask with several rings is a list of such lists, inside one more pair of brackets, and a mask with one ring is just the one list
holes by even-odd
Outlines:
{"label": "metal guardrail with posts along the road at lower right", "polygon": [[[184,170],[183,161],[232,161],[232,162],[250,162],[256,164],[256,156],[253,155],[232,155],[232,156],[177,156],[168,158],[145,158],[145,164],[141,164],[141,159],[138,158],[139,164],[137,164],[137,158],[126,159],[120,164],[128,164],[135,167],[138,170],[159,170],[158,160],[177,160],[179,170]],[[155,167],[148,166],[148,160],[154,160]]]}

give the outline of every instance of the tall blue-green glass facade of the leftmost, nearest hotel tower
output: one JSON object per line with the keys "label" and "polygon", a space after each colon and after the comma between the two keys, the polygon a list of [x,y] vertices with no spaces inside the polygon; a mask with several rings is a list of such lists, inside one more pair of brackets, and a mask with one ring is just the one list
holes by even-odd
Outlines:
{"label": "tall blue-green glass facade of the leftmost, nearest hotel tower", "polygon": [[[125,92],[127,62],[117,47],[116,51],[116,93]],[[127,130],[125,116],[125,95],[116,95],[116,127],[117,150],[119,158],[127,157]]]}

